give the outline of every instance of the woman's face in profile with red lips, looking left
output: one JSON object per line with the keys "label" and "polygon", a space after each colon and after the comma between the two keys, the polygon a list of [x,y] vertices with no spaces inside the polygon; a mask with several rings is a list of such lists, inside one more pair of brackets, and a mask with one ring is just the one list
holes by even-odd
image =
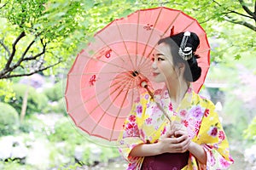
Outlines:
{"label": "woman's face in profile with red lips, looking left", "polygon": [[177,72],[173,65],[172,54],[166,43],[160,43],[153,53],[152,75],[154,82],[169,82],[177,79]]}

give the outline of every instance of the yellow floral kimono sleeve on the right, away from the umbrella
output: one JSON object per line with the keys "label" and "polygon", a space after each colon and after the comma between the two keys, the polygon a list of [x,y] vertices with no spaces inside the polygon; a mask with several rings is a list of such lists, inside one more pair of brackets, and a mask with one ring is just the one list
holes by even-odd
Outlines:
{"label": "yellow floral kimono sleeve on the right, away from the umbrella", "polygon": [[224,129],[212,102],[207,106],[195,142],[201,144],[207,152],[207,167],[202,169],[227,169],[234,162],[230,156]]}

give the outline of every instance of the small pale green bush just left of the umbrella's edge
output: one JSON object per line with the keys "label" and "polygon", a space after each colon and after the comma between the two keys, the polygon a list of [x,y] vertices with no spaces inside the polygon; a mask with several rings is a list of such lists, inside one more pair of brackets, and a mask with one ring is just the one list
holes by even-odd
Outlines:
{"label": "small pale green bush just left of the umbrella's edge", "polygon": [[51,88],[46,88],[44,94],[48,97],[50,101],[58,101],[64,96],[63,81],[55,83]]}

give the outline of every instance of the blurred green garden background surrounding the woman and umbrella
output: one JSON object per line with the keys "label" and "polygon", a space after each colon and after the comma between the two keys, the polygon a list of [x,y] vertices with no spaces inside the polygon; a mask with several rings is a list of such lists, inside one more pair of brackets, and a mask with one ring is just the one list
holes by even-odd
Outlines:
{"label": "blurred green garden background surrounding the woman and umbrella", "polygon": [[182,10],[207,31],[201,94],[218,108],[235,164],[256,169],[256,1],[1,0],[0,169],[124,169],[118,150],[68,118],[67,71],[94,33],[137,9]]}

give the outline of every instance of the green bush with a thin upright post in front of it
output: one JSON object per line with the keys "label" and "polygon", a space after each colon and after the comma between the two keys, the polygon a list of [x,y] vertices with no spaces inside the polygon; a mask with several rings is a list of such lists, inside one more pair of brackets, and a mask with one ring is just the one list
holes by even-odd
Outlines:
{"label": "green bush with a thin upright post in front of it", "polygon": [[27,98],[26,114],[32,114],[34,112],[41,113],[42,110],[47,106],[47,103],[48,103],[47,97],[42,93],[38,93],[35,88],[32,88],[24,84],[15,84],[13,86],[13,89],[15,92],[15,98],[11,99],[9,101],[9,104],[13,105],[16,111],[20,113],[24,94],[26,93],[27,88],[28,88],[28,98]]}

